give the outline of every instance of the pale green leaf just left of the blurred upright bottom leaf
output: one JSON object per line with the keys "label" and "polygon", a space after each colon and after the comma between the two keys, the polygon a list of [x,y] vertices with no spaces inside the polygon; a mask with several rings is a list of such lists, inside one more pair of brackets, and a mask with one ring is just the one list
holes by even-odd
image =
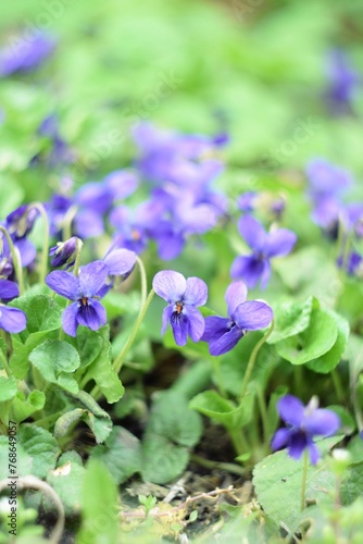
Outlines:
{"label": "pale green leaf just left of the blurred upright bottom leaf", "polygon": [[[47,474],[47,482],[59,495],[67,516],[78,515],[83,504],[82,491],[86,471],[80,458],[74,460],[74,454],[75,452],[63,454],[57,462],[57,468]],[[53,504],[50,500],[46,502],[46,509],[51,508]]]}

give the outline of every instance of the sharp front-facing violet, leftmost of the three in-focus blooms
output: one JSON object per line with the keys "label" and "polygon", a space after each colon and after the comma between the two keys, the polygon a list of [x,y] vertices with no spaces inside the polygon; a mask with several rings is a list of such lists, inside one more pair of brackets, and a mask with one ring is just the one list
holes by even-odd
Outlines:
{"label": "sharp front-facing violet, leftmost of the three in-focus blooms", "polygon": [[82,267],[79,276],[63,270],[54,270],[46,277],[47,285],[62,297],[74,302],[68,306],[62,317],[64,331],[75,336],[78,325],[88,326],[92,331],[105,324],[105,309],[98,301],[109,269],[102,261],[93,261]]}

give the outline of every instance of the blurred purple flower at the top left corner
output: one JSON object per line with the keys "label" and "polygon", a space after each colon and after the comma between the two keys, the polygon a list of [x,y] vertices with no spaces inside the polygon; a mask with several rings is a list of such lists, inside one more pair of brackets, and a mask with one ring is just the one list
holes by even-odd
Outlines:
{"label": "blurred purple flower at the top left corner", "polygon": [[37,67],[55,47],[54,38],[43,34],[30,40],[20,35],[13,40],[11,46],[0,50],[0,76],[27,72]]}

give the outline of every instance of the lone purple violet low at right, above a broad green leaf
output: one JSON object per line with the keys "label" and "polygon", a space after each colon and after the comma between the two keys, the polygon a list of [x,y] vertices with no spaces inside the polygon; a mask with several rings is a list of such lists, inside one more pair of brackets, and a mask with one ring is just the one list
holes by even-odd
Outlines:
{"label": "lone purple violet low at right, above a broad green leaf", "polygon": [[320,454],[314,436],[335,434],[340,425],[339,417],[331,410],[317,408],[316,397],[304,407],[299,398],[285,395],[278,400],[277,410],[288,426],[275,433],[272,449],[287,447],[289,456],[298,460],[308,448],[312,465],[316,465]]}

